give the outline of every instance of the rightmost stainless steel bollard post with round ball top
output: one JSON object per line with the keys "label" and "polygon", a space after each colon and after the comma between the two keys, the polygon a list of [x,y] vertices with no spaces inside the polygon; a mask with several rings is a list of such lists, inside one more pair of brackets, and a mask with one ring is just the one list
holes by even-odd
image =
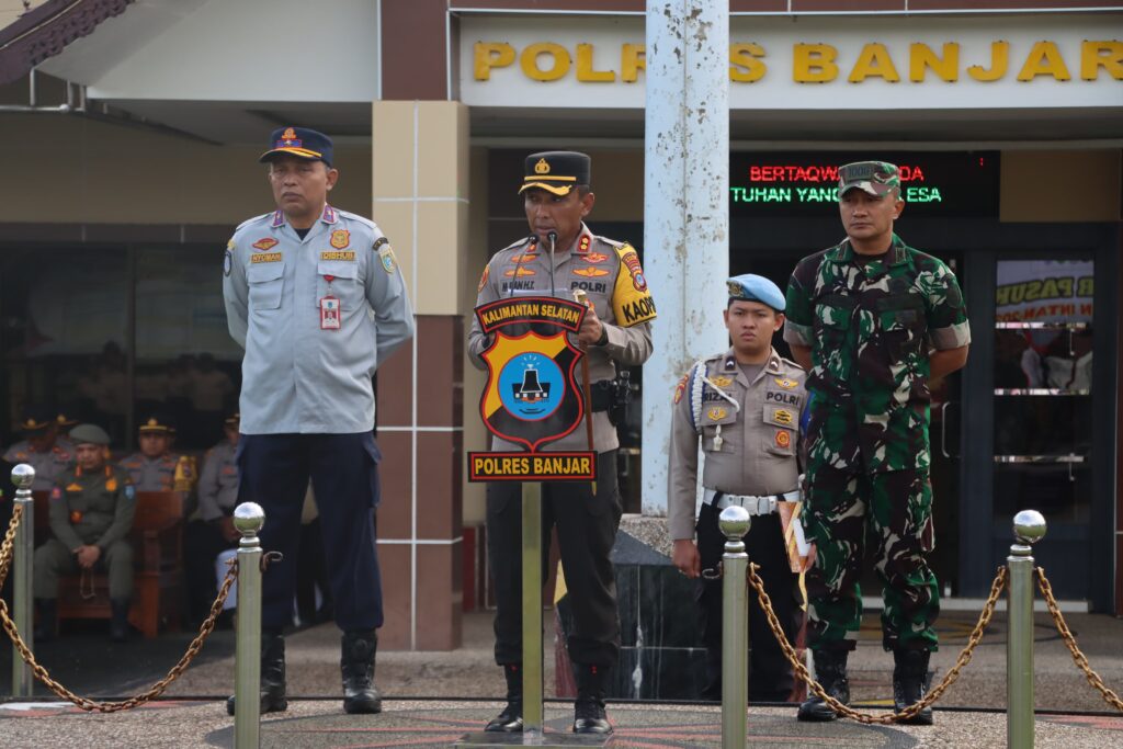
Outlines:
{"label": "rightmost stainless steel bollard post with round ball top", "polygon": [[1046,519],[1035,510],[1014,515],[1006,638],[1006,746],[1033,748],[1033,557],[1030,545],[1046,535]]}

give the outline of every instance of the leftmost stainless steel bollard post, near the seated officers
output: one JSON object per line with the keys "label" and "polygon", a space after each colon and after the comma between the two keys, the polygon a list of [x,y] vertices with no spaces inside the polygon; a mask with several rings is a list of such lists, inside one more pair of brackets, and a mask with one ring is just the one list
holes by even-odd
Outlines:
{"label": "leftmost stainless steel bollard post, near the seated officers", "polygon": [[[31,484],[35,483],[35,468],[20,463],[11,469],[11,483],[16,485],[13,506],[24,508],[24,517],[16,529],[12,544],[11,575],[12,621],[20,637],[27,643],[28,650],[35,650],[35,628],[33,625],[35,597],[31,588],[31,566],[35,559],[35,500],[31,499]],[[3,530],[7,530],[3,529]],[[2,535],[3,531],[0,531]],[[11,646],[11,696],[30,697],[35,688],[31,678],[31,667],[24,663],[16,646]]]}

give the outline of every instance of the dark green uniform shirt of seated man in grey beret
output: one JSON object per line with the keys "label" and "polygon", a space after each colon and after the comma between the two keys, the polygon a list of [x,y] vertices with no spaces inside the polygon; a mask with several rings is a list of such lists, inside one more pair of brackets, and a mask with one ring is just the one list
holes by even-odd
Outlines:
{"label": "dark green uniform shirt of seated man in grey beret", "polygon": [[70,468],[51,492],[51,532],[73,551],[92,544],[106,550],[133,530],[136,496],[129,475],[106,465],[84,473]]}

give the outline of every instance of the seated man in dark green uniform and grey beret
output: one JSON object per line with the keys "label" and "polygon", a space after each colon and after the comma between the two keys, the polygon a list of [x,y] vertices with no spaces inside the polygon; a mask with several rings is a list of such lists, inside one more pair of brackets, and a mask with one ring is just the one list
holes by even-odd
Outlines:
{"label": "seated man in dark green uniform and grey beret", "polygon": [[35,550],[35,597],[39,624],[35,638],[54,637],[58,578],[79,570],[109,570],[112,618],[109,637],[128,636],[129,596],[133,594],[133,515],[136,497],[129,475],[106,460],[109,435],[97,424],[71,430],[76,465],[63,472],[51,490],[52,538]]}

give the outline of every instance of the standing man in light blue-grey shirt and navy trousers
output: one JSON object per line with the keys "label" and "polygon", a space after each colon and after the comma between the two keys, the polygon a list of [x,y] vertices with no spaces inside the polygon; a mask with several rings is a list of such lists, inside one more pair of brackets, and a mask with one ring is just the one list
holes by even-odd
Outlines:
{"label": "standing man in light blue-grey shirt and navy trousers", "polygon": [[331,139],[281,128],[261,161],[277,210],[235,231],[222,293],[230,335],[246,349],[238,500],[265,509],[262,546],[284,555],[262,583],[262,712],[287,706],[281,630],[292,620],[309,477],[343,630],[344,709],[378,712],[381,454],[372,376],[413,334],[413,313],[386,237],[373,221],[327,202],[339,179]]}

